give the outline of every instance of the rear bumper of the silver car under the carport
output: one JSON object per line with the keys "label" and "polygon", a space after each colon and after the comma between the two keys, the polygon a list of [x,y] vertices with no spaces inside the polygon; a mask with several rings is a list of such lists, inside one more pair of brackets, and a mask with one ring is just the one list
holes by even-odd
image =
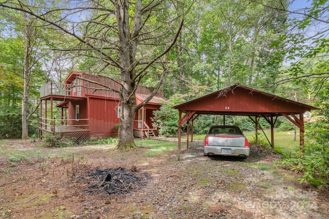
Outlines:
{"label": "rear bumper of the silver car under the carport", "polygon": [[227,146],[205,146],[205,155],[245,156],[248,157],[250,148],[227,147]]}

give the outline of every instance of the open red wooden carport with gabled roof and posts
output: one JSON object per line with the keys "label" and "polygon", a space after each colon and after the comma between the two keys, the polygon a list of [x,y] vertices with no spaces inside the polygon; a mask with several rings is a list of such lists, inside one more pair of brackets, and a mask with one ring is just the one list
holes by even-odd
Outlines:
{"label": "open red wooden carport with gabled roof and posts", "polygon": [[[304,113],[312,109],[317,109],[313,106],[291,101],[290,99],[239,84],[179,104],[174,106],[174,108],[179,111],[178,160],[180,159],[181,126],[187,122],[188,147],[189,122],[192,121],[191,141],[193,141],[193,121],[200,114],[249,116],[255,123],[256,133],[259,127],[259,119],[263,117],[271,126],[271,141],[265,136],[272,148],[274,147],[273,129],[275,123],[278,116],[284,116],[299,128],[300,146],[302,147],[304,145]],[[182,113],[185,113],[185,115],[182,116]],[[299,115],[299,117],[296,115]]]}

